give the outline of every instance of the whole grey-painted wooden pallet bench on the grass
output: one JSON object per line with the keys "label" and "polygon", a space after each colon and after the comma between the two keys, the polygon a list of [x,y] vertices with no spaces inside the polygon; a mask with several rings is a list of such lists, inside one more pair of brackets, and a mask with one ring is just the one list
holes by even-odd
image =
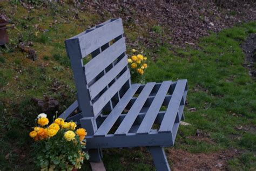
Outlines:
{"label": "whole grey-painted wooden pallet bench on the grass", "polygon": [[91,162],[102,161],[102,148],[145,146],[157,170],[170,170],[163,147],[184,118],[187,80],[131,84],[123,34],[115,18],[65,40],[78,100],[60,118],[86,129]]}

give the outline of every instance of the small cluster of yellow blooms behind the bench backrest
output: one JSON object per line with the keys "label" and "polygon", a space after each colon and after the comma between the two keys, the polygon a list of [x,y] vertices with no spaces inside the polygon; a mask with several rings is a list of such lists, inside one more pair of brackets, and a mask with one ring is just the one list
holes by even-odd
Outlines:
{"label": "small cluster of yellow blooms behind the bench backrest", "polygon": [[131,72],[136,71],[136,73],[143,75],[144,70],[147,68],[146,60],[147,58],[144,57],[142,54],[137,54],[137,50],[132,49],[132,56],[128,59],[128,63],[130,64]]}

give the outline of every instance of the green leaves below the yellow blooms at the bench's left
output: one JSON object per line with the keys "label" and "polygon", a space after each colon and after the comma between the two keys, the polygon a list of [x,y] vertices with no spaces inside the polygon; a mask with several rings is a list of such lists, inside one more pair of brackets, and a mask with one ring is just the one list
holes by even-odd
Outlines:
{"label": "green leaves below the yellow blooms at the bench's left", "polygon": [[36,165],[42,169],[72,170],[75,166],[80,168],[83,160],[89,159],[87,153],[82,152],[85,146],[79,142],[79,136],[75,140],[67,141],[64,138],[65,129],[59,129],[58,133],[49,139],[36,141],[33,145]]}

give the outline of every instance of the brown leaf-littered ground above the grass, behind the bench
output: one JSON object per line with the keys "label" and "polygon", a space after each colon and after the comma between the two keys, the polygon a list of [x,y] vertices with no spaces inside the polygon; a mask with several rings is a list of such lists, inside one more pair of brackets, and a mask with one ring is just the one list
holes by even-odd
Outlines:
{"label": "brown leaf-littered ground above the grass, behind the bench", "polygon": [[[146,47],[152,48],[161,43],[193,45],[209,31],[218,32],[236,23],[256,20],[255,7],[256,3],[252,1],[225,1],[219,6],[212,0],[141,0],[126,3],[115,0],[100,3],[85,1],[83,9],[98,13],[102,19],[100,22],[110,17],[121,17],[126,28],[143,29],[143,36],[138,36],[136,43],[132,42],[134,45],[144,42]],[[152,25],[160,28],[152,28]],[[127,43],[131,42],[128,40]]]}

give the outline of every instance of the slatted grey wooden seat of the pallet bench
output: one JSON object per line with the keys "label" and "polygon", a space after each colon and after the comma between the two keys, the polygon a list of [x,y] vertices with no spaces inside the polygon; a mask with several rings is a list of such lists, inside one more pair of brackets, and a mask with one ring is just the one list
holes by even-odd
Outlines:
{"label": "slatted grey wooden seat of the pallet bench", "polygon": [[[110,114],[98,116],[99,127],[94,135],[86,136],[86,147],[173,146],[179,122],[184,118],[186,95],[185,79],[133,84]],[[77,107],[76,101],[66,111],[75,111]],[[60,118],[65,118],[64,114]],[[80,125],[83,117],[78,113],[66,119],[78,120]]]}

